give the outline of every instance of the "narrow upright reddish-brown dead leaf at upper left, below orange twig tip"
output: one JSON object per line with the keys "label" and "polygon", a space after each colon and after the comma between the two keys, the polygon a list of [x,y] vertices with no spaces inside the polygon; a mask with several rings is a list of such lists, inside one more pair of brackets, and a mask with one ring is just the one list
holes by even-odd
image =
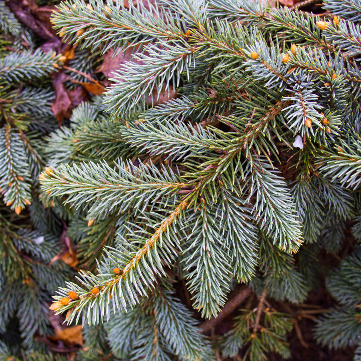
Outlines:
{"label": "narrow upright reddish-brown dead leaf at upper left, below orange twig tip", "polygon": [[65,88],[64,82],[70,78],[64,72],[58,72],[53,79],[53,88],[55,90],[55,102],[52,105],[52,111],[58,121],[59,126],[62,125],[64,118],[70,117],[71,100]]}

